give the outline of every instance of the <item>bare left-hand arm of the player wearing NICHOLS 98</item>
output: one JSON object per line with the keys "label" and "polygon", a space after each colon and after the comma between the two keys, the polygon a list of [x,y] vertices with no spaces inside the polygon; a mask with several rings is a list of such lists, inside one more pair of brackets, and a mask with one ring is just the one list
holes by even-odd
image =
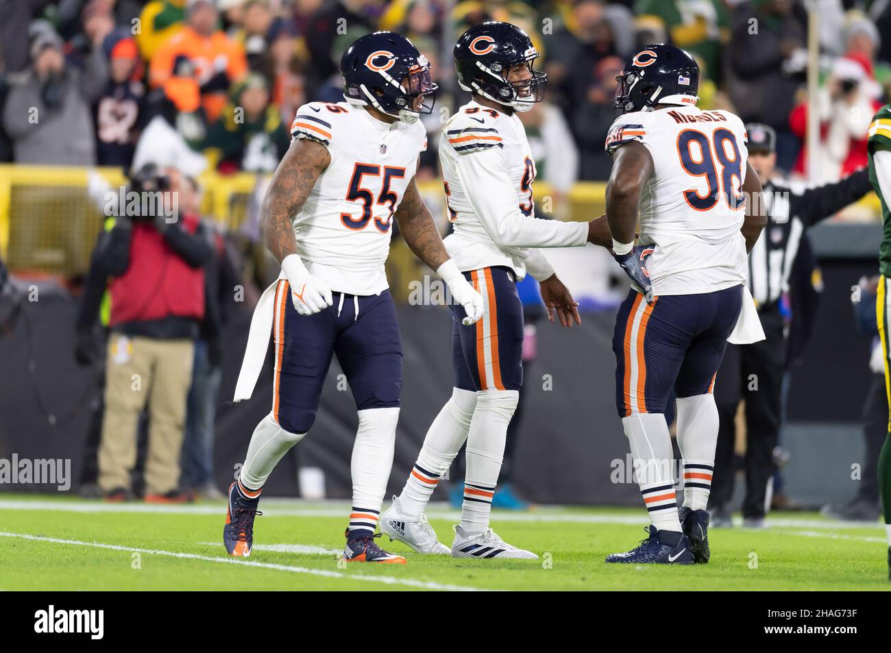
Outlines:
{"label": "bare left-hand arm of the player wearing NICHOLS 98", "polygon": [[618,148],[607,183],[607,222],[612,239],[634,241],[641,193],[652,174],[653,159],[646,146],[632,142]]}

